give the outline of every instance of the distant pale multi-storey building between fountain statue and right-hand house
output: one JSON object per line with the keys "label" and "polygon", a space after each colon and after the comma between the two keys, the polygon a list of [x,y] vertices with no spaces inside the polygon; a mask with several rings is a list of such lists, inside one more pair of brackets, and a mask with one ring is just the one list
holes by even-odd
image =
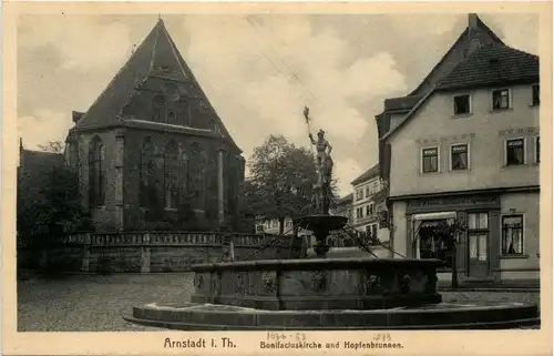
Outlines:
{"label": "distant pale multi-storey building between fountain statue and right-hand house", "polygon": [[[384,196],[379,175],[379,164],[373,165],[352,181],[352,226],[359,232],[389,241],[388,228],[379,225],[378,213],[383,208]],[[382,227],[382,228],[381,228]]]}

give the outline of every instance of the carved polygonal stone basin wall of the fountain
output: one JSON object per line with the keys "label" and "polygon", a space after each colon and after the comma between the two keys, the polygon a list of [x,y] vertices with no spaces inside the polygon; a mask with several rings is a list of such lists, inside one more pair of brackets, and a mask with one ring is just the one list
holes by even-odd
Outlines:
{"label": "carved polygonal stone basin wall of the fountain", "polygon": [[268,311],[372,309],[441,302],[438,260],[312,258],[193,266],[193,303]]}

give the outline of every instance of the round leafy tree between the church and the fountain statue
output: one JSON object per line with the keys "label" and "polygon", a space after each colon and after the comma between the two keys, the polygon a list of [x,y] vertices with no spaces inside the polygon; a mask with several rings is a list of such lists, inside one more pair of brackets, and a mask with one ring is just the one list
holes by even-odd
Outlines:
{"label": "round leafy tree between the church and the fountain statue", "polygon": [[270,135],[254,150],[248,169],[247,210],[267,220],[277,218],[283,234],[285,218],[301,215],[311,204],[311,190],[317,181],[314,155],[283,135]]}

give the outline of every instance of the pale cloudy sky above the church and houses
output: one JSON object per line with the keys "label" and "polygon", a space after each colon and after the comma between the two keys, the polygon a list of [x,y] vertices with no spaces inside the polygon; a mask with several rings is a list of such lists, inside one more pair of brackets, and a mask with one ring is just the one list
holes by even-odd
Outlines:
{"label": "pale cloudy sky above the church and houses", "polygon": [[[536,14],[480,14],[507,45],[537,54]],[[468,26],[466,14],[164,16],[170,35],[248,160],[269,134],[309,145],[326,131],[341,195],[378,162],[375,115],[408,94]],[[64,141],[156,16],[23,16],[18,134]]]}

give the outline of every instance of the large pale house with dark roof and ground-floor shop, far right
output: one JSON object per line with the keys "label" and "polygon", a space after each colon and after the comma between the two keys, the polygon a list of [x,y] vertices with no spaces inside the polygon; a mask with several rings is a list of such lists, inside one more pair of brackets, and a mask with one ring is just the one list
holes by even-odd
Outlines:
{"label": "large pale house with dark roof and ground-floor shop, far right", "polygon": [[[502,43],[475,14],[469,20],[420,85],[428,90],[394,99],[404,111],[378,116],[393,248],[443,260],[444,279],[455,253],[460,281],[535,283],[538,58]],[[464,230],[455,251],[437,234],[448,221]]]}

